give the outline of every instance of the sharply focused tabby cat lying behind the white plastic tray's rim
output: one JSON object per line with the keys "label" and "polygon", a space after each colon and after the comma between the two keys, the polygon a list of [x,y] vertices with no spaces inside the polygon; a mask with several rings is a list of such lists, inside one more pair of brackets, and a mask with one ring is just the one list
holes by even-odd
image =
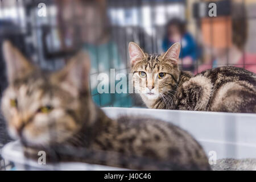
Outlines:
{"label": "sharply focused tabby cat lying behind the white plastic tray's rim", "polygon": [[193,76],[178,67],[180,44],[163,55],[148,55],[129,44],[135,91],[154,109],[256,113],[256,75],[232,66]]}

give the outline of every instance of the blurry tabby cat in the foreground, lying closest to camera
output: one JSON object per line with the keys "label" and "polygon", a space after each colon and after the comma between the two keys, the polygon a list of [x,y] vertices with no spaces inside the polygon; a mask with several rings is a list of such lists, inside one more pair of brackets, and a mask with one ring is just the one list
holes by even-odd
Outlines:
{"label": "blurry tabby cat in the foreground, lying closest to camera", "polygon": [[60,71],[47,73],[3,44],[9,86],[2,112],[24,153],[47,163],[79,161],[130,169],[210,169],[203,148],[171,123],[147,117],[110,119],[92,101],[84,52]]}

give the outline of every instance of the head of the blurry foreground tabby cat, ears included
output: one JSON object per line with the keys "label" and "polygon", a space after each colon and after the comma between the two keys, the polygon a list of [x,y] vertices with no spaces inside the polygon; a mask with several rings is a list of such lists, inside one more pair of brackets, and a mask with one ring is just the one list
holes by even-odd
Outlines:
{"label": "head of the blurry foreground tabby cat, ears included", "polygon": [[3,49],[9,86],[1,110],[11,137],[36,145],[71,138],[82,127],[81,110],[86,113],[86,104],[81,103],[86,99],[81,101],[80,97],[88,91],[85,53],[61,71],[46,73],[31,65],[9,42]]}

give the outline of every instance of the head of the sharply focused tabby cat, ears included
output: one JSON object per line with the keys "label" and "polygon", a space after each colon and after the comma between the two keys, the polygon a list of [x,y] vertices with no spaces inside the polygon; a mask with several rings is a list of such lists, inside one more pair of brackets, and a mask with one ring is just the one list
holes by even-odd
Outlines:
{"label": "head of the sharply focused tabby cat, ears included", "polygon": [[135,43],[129,44],[131,73],[137,93],[143,100],[156,100],[164,97],[177,85],[180,44],[176,43],[164,55],[148,55]]}

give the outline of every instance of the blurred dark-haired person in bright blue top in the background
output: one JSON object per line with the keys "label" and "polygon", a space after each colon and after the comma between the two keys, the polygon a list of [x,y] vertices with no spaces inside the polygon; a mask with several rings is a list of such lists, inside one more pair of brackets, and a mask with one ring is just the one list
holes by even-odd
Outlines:
{"label": "blurred dark-haired person in bright blue top in the background", "polygon": [[181,43],[180,59],[182,69],[193,71],[193,64],[198,59],[200,51],[192,35],[186,30],[185,22],[171,19],[166,26],[166,36],[163,40],[163,50],[167,51],[175,42]]}

